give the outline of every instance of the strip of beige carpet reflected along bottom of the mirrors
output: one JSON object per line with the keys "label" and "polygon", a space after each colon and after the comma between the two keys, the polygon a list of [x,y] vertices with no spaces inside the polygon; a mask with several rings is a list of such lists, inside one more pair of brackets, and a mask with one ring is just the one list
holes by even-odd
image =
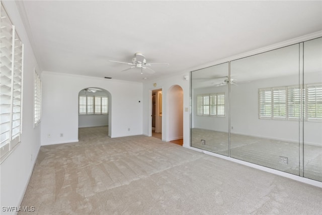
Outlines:
{"label": "strip of beige carpet reflected along bottom of the mirrors", "polygon": [[[206,140],[206,145],[201,144]],[[192,146],[209,152],[228,156],[228,133],[192,129]],[[254,136],[230,134],[230,157],[264,167],[299,175],[299,163],[303,161],[304,177],[322,181],[322,147],[304,145],[304,159],[299,158],[299,144]],[[280,162],[280,156],[288,159]]]}

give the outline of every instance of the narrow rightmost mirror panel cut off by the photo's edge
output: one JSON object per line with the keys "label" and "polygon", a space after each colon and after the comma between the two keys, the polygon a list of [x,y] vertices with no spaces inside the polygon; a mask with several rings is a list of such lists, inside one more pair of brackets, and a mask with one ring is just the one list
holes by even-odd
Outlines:
{"label": "narrow rightmost mirror panel cut off by the photo's edge", "polygon": [[303,176],[322,181],[322,38],[303,45]]}

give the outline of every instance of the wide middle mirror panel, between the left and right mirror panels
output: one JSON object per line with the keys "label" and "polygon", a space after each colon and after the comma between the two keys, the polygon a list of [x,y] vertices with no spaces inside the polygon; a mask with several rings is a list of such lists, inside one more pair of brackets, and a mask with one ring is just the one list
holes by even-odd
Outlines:
{"label": "wide middle mirror panel, between the left and right mirror panels", "polygon": [[230,68],[230,156],[299,175],[299,44]]}

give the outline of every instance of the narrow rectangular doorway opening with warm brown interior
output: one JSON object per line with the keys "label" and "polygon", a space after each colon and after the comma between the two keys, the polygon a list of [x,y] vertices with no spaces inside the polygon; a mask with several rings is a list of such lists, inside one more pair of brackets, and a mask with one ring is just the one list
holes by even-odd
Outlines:
{"label": "narrow rectangular doorway opening with warm brown interior", "polygon": [[152,136],[162,139],[162,89],[152,91]]}

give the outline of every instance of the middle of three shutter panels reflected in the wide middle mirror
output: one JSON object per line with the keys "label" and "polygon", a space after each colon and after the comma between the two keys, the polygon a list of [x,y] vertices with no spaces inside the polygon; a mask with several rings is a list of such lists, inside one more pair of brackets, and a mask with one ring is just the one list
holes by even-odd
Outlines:
{"label": "middle of three shutter panels reflected in the wide middle mirror", "polygon": [[286,88],[273,89],[273,118],[286,119]]}

